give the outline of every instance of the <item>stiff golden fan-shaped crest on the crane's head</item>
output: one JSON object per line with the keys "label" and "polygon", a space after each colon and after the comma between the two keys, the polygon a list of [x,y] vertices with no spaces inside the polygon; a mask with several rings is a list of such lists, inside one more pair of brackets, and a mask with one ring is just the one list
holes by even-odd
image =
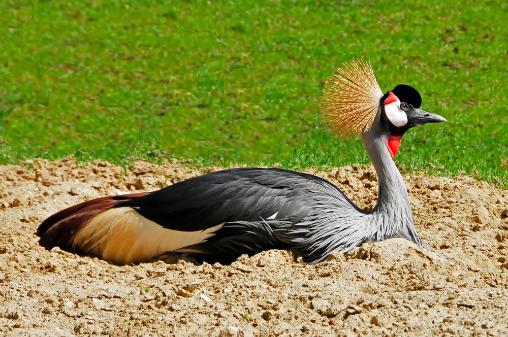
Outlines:
{"label": "stiff golden fan-shaped crest on the crane's head", "polygon": [[342,63],[323,89],[323,118],[339,136],[351,137],[372,127],[382,97],[370,62],[353,59]]}

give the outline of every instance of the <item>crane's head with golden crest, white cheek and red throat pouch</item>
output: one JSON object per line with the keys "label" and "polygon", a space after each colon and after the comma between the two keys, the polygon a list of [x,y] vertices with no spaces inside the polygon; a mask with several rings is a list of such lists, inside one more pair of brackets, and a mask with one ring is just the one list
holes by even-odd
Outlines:
{"label": "crane's head with golden crest, white cheek and red throat pouch", "polygon": [[323,93],[323,118],[333,131],[350,137],[375,126],[377,136],[386,139],[392,158],[409,128],[446,121],[420,110],[422,97],[409,85],[399,84],[383,94],[370,63],[362,60],[337,68]]}

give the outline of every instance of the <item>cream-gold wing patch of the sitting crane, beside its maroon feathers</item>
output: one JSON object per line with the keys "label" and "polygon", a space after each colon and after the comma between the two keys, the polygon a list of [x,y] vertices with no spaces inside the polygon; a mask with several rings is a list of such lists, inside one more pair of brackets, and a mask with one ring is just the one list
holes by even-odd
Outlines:
{"label": "cream-gold wing patch of the sitting crane, beside its maroon feathers", "polygon": [[206,241],[224,223],[198,231],[165,228],[130,207],[109,209],[91,219],[71,239],[74,249],[117,264],[148,261]]}

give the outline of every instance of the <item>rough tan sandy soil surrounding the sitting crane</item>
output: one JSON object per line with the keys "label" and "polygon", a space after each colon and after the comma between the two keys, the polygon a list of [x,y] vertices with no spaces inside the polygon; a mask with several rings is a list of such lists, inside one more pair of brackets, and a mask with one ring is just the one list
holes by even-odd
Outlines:
{"label": "rough tan sandy soil surrounding the sitting crane", "polygon": [[[28,167],[31,166],[31,167]],[[405,177],[430,248],[367,243],[305,265],[285,251],[195,265],[167,255],[115,266],[40,247],[52,213],[216,168],[73,157],[0,165],[0,332],[7,336],[508,335],[508,191],[470,177]],[[372,167],[314,172],[372,208]]]}

